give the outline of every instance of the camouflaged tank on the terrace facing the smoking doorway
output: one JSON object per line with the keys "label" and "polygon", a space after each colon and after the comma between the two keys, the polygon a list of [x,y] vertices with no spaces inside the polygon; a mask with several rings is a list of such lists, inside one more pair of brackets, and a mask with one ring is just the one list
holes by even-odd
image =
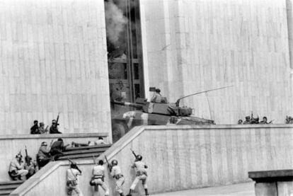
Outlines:
{"label": "camouflaged tank on the terrace facing the smoking doorway", "polygon": [[[193,109],[176,103],[151,103],[146,98],[137,98],[136,103],[112,102],[134,110],[117,115],[112,120],[113,142],[139,125],[214,125],[214,120],[192,116]],[[165,101],[166,102],[166,101]]]}

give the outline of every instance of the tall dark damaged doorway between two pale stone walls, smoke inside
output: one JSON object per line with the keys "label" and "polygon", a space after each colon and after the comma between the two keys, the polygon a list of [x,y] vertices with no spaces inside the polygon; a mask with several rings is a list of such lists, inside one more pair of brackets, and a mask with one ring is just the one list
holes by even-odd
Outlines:
{"label": "tall dark damaged doorway between two pale stone walls, smoke inside", "polygon": [[139,0],[105,2],[108,73],[113,142],[127,131],[123,114],[134,110],[114,102],[132,102],[144,97],[142,38]]}

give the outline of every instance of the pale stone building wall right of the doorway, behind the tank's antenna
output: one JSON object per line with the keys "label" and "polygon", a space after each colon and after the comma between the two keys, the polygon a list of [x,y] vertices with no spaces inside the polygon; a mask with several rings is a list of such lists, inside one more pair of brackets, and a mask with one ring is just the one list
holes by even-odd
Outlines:
{"label": "pale stone building wall right of the doorway, behind the tank's antenna", "polygon": [[[289,1],[289,0],[288,0]],[[286,1],[141,0],[146,86],[218,124],[292,115]],[[292,14],[291,14],[292,15]],[[291,20],[292,21],[292,20]]]}

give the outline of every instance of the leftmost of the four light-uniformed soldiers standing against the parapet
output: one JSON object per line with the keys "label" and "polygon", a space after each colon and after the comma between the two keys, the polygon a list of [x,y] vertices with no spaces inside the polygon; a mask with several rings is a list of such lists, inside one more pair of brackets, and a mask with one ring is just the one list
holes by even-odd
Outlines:
{"label": "leftmost of the four light-uniformed soldiers standing against the parapet", "polygon": [[70,168],[67,170],[67,195],[72,195],[73,192],[82,195],[78,186],[77,175],[81,175],[81,170],[75,162],[71,161]]}

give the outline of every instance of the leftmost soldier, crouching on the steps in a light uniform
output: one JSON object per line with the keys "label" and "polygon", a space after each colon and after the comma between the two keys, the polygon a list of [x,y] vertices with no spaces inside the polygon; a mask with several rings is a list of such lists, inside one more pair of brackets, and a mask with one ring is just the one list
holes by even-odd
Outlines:
{"label": "leftmost soldier, crouching on the steps in a light uniform", "polygon": [[16,178],[22,180],[21,178],[28,174],[28,171],[24,169],[23,156],[20,153],[11,161],[8,174],[12,180],[17,180]]}

